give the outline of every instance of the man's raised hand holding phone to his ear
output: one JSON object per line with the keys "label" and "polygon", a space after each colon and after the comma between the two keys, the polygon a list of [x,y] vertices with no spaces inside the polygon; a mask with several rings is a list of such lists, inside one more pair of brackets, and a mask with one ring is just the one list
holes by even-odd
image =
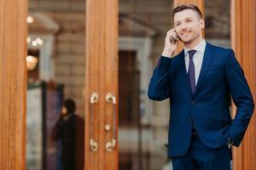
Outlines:
{"label": "man's raised hand holding phone to his ear", "polygon": [[178,36],[175,29],[171,29],[166,32],[166,42],[165,42],[165,48],[163,50],[162,56],[170,57],[172,56],[172,53],[177,48],[177,42],[178,42]]}

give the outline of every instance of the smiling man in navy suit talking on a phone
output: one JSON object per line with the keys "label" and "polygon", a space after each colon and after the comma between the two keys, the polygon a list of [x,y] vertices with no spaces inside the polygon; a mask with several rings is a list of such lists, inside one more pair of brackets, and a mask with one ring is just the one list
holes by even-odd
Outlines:
{"label": "smiling man in navy suit talking on a phone", "polygon": [[[174,8],[174,28],[149,82],[148,97],[170,99],[168,156],[174,170],[228,170],[230,146],[239,146],[253,114],[253,97],[232,49],[202,37],[195,5]],[[178,40],[183,51],[172,56]],[[230,117],[230,97],[237,107]]]}

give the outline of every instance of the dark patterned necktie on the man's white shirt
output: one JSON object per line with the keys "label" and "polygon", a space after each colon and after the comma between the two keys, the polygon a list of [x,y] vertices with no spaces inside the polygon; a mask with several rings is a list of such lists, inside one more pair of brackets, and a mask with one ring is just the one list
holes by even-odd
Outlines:
{"label": "dark patterned necktie on the man's white shirt", "polygon": [[190,83],[190,88],[192,94],[195,94],[195,65],[193,61],[193,56],[195,54],[196,50],[192,49],[189,50],[189,71],[188,71],[188,76],[189,76],[189,83]]}

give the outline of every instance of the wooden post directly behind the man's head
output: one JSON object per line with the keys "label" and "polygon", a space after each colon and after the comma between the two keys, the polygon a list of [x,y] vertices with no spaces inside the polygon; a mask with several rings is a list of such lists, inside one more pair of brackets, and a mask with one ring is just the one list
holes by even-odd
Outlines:
{"label": "wooden post directly behind the man's head", "polygon": [[[181,4],[194,4],[198,8],[200,8],[201,14],[203,16],[205,15],[205,3],[204,3],[204,0],[174,0],[173,1],[173,8],[176,8],[178,5],[181,5]],[[204,30],[203,30],[203,36],[205,36],[205,31]],[[181,52],[182,49],[183,49],[183,43],[182,42],[178,42],[176,54]]]}

